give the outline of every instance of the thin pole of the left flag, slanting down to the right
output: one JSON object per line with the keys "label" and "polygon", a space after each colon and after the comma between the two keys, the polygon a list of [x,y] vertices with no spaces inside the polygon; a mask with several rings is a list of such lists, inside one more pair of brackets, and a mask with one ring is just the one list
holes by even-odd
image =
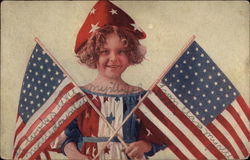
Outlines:
{"label": "thin pole of the left flag, slanting down to the right", "polygon": [[[72,81],[72,83],[76,86],[76,88],[85,95],[85,98],[87,99],[88,103],[93,107],[93,109],[97,112],[97,114],[102,118],[102,120],[108,125],[108,127],[112,130],[112,132],[115,132],[116,130],[111,126],[111,124],[107,121],[107,119],[104,117],[104,115],[99,111],[99,109],[95,106],[95,104],[88,98],[88,96],[78,87],[78,85],[75,83],[75,81],[71,78],[71,76],[67,73],[67,71],[63,68],[62,65],[56,60],[56,58],[49,52],[49,50],[45,47],[45,45],[39,40],[39,38],[35,37],[34,39],[45,51],[48,53],[51,59],[56,62],[58,67],[69,77],[69,79]],[[121,141],[121,143],[124,145],[125,148],[128,147],[128,145],[124,142],[122,137],[119,134],[117,135],[117,138]]]}

